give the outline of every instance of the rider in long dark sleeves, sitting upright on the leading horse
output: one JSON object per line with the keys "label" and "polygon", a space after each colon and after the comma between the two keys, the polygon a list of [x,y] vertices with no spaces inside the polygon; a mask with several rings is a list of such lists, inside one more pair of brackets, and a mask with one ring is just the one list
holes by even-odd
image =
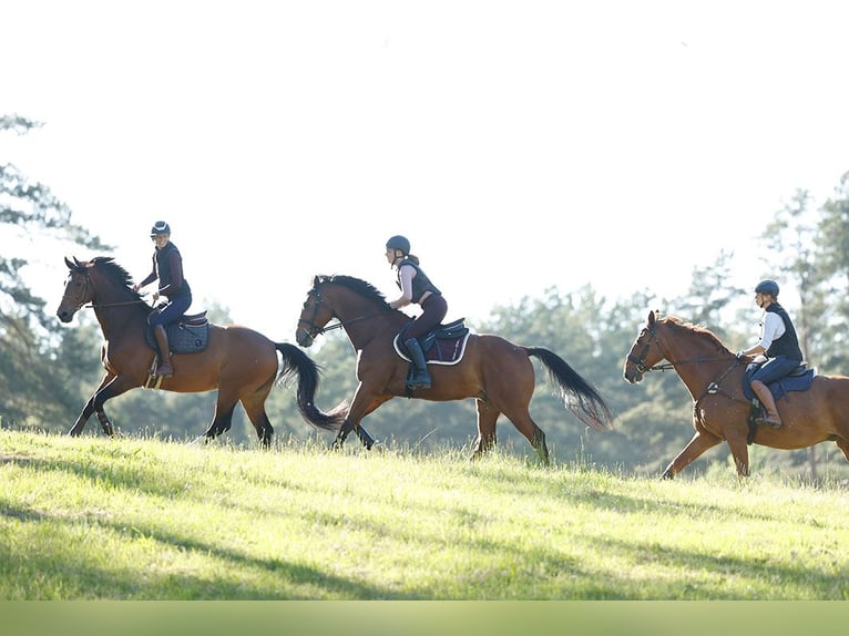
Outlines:
{"label": "rider in long dark sleeves, sitting upright on the leading horse", "polygon": [[153,301],[165,296],[167,302],[156,307],[147,316],[147,324],[153,326],[153,335],[160,348],[160,366],[156,375],[170,378],[174,375],[168,349],[168,336],[165,327],[177,320],[192,305],[192,288],[183,278],[183,257],[177,246],[171,243],[171,226],[164,220],[157,220],[151,228],[151,239],[156,244],[153,253],[153,269],[147,277],[133,285],[133,291],[139,291],[158,278],[158,289],[153,293]]}

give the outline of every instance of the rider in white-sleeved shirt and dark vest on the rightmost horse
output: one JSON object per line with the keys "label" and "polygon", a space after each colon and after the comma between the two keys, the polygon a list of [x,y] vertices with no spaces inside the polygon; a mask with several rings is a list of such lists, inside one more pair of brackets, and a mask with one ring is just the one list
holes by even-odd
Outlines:
{"label": "rider in white-sleeved shirt and dark vest on the rightmost horse", "polygon": [[737,351],[737,358],[764,355],[767,361],[753,373],[750,387],[767,411],[766,418],[758,418],[756,423],[774,429],[781,428],[773,393],[767,384],[787,376],[802,360],[799,339],[792,320],[778,304],[778,284],[775,280],[761,280],[755,287],[755,304],[764,310],[760,320],[760,341],[754,347]]}

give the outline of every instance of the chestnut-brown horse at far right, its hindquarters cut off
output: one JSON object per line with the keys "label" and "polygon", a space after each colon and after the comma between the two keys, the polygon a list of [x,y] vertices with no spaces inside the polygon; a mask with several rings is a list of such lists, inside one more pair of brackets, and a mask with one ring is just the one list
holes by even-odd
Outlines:
{"label": "chestnut-brown horse at far right, its hindquarters cut off", "polygon": [[[668,365],[658,365],[667,360]],[[646,325],[625,357],[625,380],[636,383],[648,371],[675,369],[693,398],[695,434],[666,466],[672,479],[723,440],[728,443],[739,478],[749,474],[748,443],[782,450],[833,441],[849,460],[849,378],[815,376],[809,389],[788,391],[777,402],[784,425],[757,427],[750,437],[750,402],[743,380],[750,359],[738,359],[705,328],[668,316],[648,314]]]}

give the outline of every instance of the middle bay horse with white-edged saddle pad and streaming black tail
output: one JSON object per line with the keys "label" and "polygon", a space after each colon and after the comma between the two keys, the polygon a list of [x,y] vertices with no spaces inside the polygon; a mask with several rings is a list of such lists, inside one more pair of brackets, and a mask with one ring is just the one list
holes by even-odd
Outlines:
{"label": "middle bay horse with white-edged saddle pad and streaming black tail", "polygon": [[[327,327],[334,317],[338,322]],[[611,428],[612,414],[604,399],[562,358],[542,347],[521,347],[487,334],[470,334],[459,362],[432,366],[432,386],[408,394],[408,361],[395,351],[392,340],[411,320],[389,307],[383,295],[365,280],[342,275],[314,278],[295,339],[301,347],[309,347],[317,335],[340,327],[358,352],[358,386],[350,406],[342,403],[333,411],[346,416],[335,448],[341,447],[351,430],[359,431],[362,418],[395,397],[431,401],[474,398],[478,438],[472,459],[495,444],[495,421],[503,413],[528,439],[540,462],[548,464],[545,433],[528,410],[534,390],[532,356],[546,367],[565,406],[582,423],[600,431]]]}

